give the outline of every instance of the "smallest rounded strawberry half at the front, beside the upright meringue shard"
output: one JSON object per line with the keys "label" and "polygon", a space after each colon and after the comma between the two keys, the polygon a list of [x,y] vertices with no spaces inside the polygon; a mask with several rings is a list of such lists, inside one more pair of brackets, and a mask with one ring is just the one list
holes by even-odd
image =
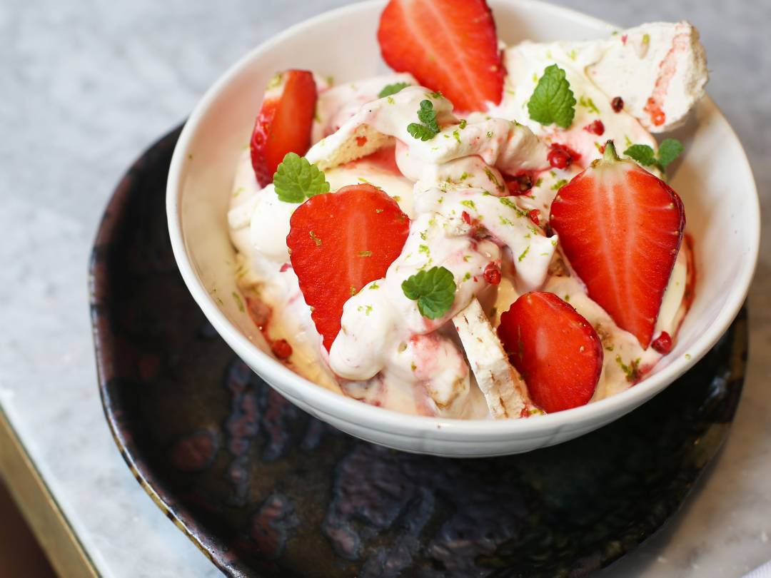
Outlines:
{"label": "smallest rounded strawberry half at the front, beside the upright meringue shard", "polygon": [[554,293],[520,296],[500,316],[498,337],[530,398],[545,412],[577,408],[594,395],[602,371],[600,338]]}

